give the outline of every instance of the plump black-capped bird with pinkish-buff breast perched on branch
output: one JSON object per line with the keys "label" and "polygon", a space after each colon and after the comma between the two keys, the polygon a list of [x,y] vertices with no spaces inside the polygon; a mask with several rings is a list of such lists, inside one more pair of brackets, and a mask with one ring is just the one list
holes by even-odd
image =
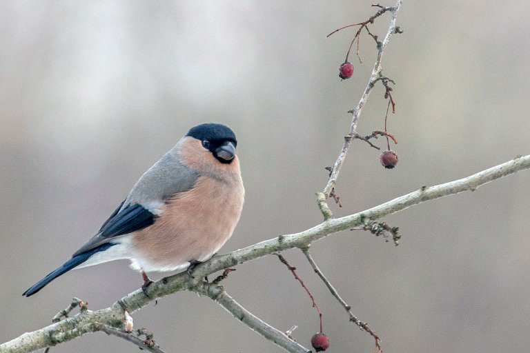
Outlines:
{"label": "plump black-capped bird with pinkish-buff breast perched on branch", "polygon": [[126,199],[72,258],[23,292],[31,296],[72,269],[128,259],[141,272],[183,272],[210,259],[230,239],[245,189],[233,130],[191,128],[135,183]]}

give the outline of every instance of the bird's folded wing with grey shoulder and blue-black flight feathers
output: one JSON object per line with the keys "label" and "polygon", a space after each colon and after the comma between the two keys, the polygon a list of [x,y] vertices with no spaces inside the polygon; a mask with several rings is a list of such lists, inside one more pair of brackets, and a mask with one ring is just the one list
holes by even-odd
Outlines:
{"label": "bird's folded wing with grey shoulder and blue-black flight feathers", "polygon": [[147,228],[158,216],[152,208],[153,203],[164,203],[168,197],[193,188],[199,174],[179,163],[170,152],[141,176],[99,232],[72,256],[97,248],[117,236]]}

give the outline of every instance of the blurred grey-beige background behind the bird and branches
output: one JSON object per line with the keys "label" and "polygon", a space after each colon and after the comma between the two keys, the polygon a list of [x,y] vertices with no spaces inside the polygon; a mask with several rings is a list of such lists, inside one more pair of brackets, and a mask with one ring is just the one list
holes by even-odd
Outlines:
{"label": "blurred grey-beige background behind the bird and branches", "polygon": [[[393,5],[384,3],[384,5]],[[375,61],[365,33],[352,79],[340,81],[371,1],[1,1],[0,341],[48,325],[72,296],[107,307],[139,288],[126,261],[69,272],[21,293],[95,234],[138,177],[189,128],[235,130],[246,203],[228,252],[320,223],[315,192],[342,147]],[[397,83],[389,131],[394,170],[355,141],[337,183],[344,216],[422,185],[467,177],[530,153],[530,3],[404,1],[383,59]],[[370,26],[380,38],[390,14]],[[383,128],[377,85],[358,131]],[[380,146],[383,139],[375,141]],[[385,352],[516,352],[530,345],[530,172],[384,219],[398,247],[369,232],[312,246],[353,313]],[[373,339],[317,279],[284,253],[324,314],[329,352],[371,352]],[[151,274],[153,279],[161,274]],[[248,310],[311,347],[318,317],[274,256],[223,282]],[[166,352],[282,352],[207,298],[180,292],[135,313]],[[52,352],[135,352],[88,334]]]}

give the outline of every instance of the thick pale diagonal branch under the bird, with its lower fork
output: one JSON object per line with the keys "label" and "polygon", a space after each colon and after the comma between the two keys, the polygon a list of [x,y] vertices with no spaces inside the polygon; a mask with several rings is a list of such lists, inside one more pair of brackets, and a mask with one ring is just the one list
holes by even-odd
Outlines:
{"label": "thick pale diagonal branch under the bird, with its lower fork", "polygon": [[[463,179],[449,181],[449,183],[430,187],[423,186],[420,190],[397,197],[391,201],[387,201],[386,203],[382,203],[381,205],[377,205],[362,212],[357,212],[337,219],[328,219],[315,225],[313,228],[304,230],[303,232],[280,235],[277,238],[262,241],[261,243],[248,246],[247,248],[215,256],[212,259],[197,265],[197,268],[195,268],[195,271],[193,272],[195,278],[190,278],[186,273],[166,277],[148,287],[149,296],[145,296],[141,289],[136,290],[135,292],[124,296],[124,298],[119,299],[119,301],[106,309],[94,312],[87,310],[86,312],[81,312],[75,316],[60,321],[59,323],[54,323],[34,332],[28,332],[12,341],[3,343],[0,345],[0,353],[32,352],[51,345],[57,345],[58,343],[70,341],[89,332],[97,332],[101,327],[97,324],[121,328],[125,321],[125,311],[133,313],[163,296],[173,294],[180,290],[206,293],[208,296],[210,296],[211,293],[215,294],[216,291],[219,291],[219,288],[208,288],[208,290],[205,290],[207,284],[203,283],[201,280],[204,276],[212,274],[213,272],[291,248],[300,248],[304,250],[314,241],[323,239],[330,234],[349,230],[358,225],[368,224],[371,221],[405,210],[406,208],[418,205],[425,201],[439,199],[440,197],[458,194],[460,192],[474,191],[490,181],[529,168],[530,155],[516,157],[511,161],[496,165],[495,167],[483,170],[482,172],[478,172]],[[241,317],[241,305],[237,304],[233,306],[230,303],[230,300],[233,301],[233,299],[227,294],[222,294],[222,296],[214,294],[210,297],[214,297],[215,300],[233,314],[233,316],[238,318]],[[262,329],[257,326],[255,321],[242,320],[242,323],[248,325],[252,330],[262,334],[262,336],[265,336],[267,339],[271,339],[271,341],[278,345],[280,345],[278,343],[279,341],[285,343],[280,346],[288,352],[307,351],[304,351],[304,347],[289,339],[286,334],[279,332],[279,330],[270,330],[271,335],[274,336],[274,339],[272,339],[262,332]],[[288,340],[291,340],[291,342],[287,342],[285,337],[287,337]]]}

